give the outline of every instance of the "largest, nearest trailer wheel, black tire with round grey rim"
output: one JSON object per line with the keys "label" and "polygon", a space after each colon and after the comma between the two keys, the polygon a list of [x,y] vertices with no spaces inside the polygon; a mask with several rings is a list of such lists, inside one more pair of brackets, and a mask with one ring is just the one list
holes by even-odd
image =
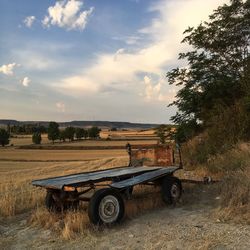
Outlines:
{"label": "largest, nearest trailer wheel, black tire with round grey rim", "polygon": [[94,225],[118,223],[124,216],[124,201],[115,190],[100,189],[89,202],[88,215]]}

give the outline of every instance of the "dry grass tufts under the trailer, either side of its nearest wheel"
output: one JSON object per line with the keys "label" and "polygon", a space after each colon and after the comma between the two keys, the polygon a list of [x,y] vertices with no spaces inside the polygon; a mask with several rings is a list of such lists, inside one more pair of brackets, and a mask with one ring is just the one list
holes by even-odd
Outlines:
{"label": "dry grass tufts under the trailer, either side of its nearest wheel", "polygon": [[[125,203],[125,219],[165,206],[159,191],[159,188],[154,187],[136,187],[133,199]],[[90,237],[93,231],[104,230],[105,227],[97,230],[97,227],[89,222],[87,208],[88,203],[81,203],[78,211],[55,214],[49,213],[44,206],[39,206],[32,212],[29,222],[44,229],[50,229],[63,239],[74,239],[79,234]]]}

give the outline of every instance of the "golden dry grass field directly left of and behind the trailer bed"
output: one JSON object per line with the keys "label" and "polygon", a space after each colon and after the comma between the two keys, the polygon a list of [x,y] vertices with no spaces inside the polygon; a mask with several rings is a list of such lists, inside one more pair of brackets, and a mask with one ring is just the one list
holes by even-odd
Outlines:
{"label": "golden dry grass field directly left of and behind the trailer bed", "polygon": [[33,179],[126,164],[126,157],[67,163],[0,162],[0,216],[13,216],[43,204],[45,191],[31,186]]}

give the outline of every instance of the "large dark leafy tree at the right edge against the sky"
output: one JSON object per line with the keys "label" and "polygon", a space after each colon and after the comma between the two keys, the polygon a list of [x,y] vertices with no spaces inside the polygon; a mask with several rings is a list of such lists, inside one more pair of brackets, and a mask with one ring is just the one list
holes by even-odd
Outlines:
{"label": "large dark leafy tree at the right edge against the sky", "polygon": [[221,110],[239,103],[246,112],[250,108],[249,13],[249,0],[231,0],[218,7],[208,22],[184,32],[182,42],[193,50],[180,53],[179,59],[188,65],[167,73],[169,83],[181,87],[171,104],[178,108],[171,119],[180,125],[179,141],[210,127],[211,118],[220,117]]}

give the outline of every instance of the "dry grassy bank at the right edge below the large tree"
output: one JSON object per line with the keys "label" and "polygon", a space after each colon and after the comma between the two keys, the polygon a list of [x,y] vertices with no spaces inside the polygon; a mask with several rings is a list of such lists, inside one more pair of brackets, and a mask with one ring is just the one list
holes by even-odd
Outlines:
{"label": "dry grassy bank at the right edge below the large tree", "polygon": [[223,154],[209,156],[202,162],[206,152],[197,147],[196,137],[184,147],[184,166],[195,170],[199,176],[212,176],[221,179],[220,209],[217,216],[222,220],[233,220],[250,224],[250,144],[239,143]]}

